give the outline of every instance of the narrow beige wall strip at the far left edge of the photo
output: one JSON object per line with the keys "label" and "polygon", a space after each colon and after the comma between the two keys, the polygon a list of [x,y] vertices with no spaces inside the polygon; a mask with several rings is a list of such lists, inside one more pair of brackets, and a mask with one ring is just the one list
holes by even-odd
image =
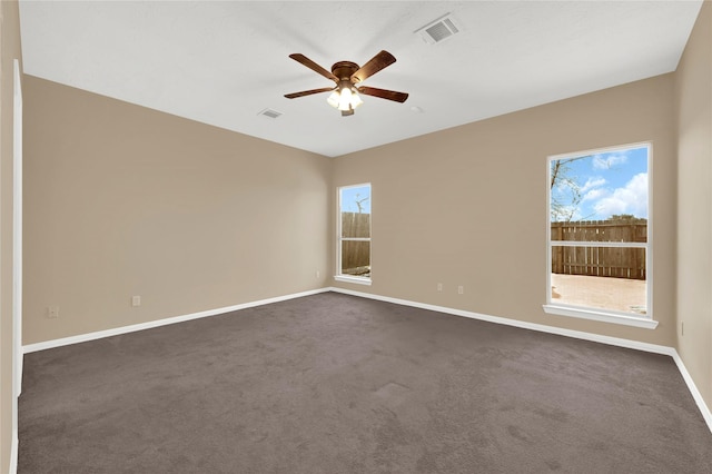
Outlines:
{"label": "narrow beige wall strip at the far left edge of the photo", "polygon": [[17,1],[0,2],[0,472],[10,468],[12,445],[12,207],[13,93],[21,59]]}

